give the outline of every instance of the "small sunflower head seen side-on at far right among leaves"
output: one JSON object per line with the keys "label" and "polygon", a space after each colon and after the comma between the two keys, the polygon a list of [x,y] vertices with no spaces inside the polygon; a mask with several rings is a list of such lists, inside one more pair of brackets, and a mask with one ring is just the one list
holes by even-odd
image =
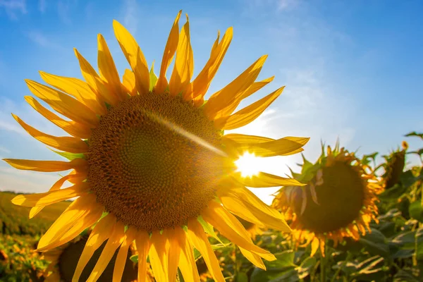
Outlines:
{"label": "small sunflower head seen side-on at far right among leaves", "polygon": [[385,173],[382,176],[384,182],[384,188],[392,188],[396,184],[400,183],[401,174],[403,174],[405,166],[405,154],[408,149],[407,142],[402,142],[402,149],[396,149],[391,152],[388,156],[384,156],[385,164],[382,166],[385,169]]}

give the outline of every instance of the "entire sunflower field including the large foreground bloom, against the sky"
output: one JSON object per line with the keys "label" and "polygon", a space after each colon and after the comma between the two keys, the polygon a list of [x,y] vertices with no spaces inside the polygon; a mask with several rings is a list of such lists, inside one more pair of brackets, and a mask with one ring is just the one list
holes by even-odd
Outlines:
{"label": "entire sunflower field including the large foreground bloom, against the sky", "polygon": [[[336,142],[309,160],[309,137],[229,131],[262,116],[285,86],[255,98],[274,80],[259,80],[264,55],[209,93],[233,27],[194,73],[181,15],[157,74],[113,20],[122,77],[98,34],[98,71],[74,49],[82,79],[40,71],[44,82],[25,80],[25,102],[67,135],[12,113],[20,127],[8,128],[60,160],[8,152],[5,171],[65,173],[48,190],[1,192],[0,281],[423,281],[423,149],[405,140],[378,157]],[[423,133],[405,136],[423,142]],[[255,164],[293,154],[302,164],[287,176]],[[266,204],[255,188],[278,190]]]}

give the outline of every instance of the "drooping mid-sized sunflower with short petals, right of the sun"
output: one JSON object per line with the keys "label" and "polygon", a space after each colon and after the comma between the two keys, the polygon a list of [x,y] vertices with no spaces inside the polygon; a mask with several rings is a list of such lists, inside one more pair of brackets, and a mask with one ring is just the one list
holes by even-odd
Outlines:
{"label": "drooping mid-sized sunflower with short petals, right of the sun", "polygon": [[301,173],[293,176],[307,185],[281,188],[272,202],[291,221],[295,245],[311,243],[311,255],[320,249],[324,256],[327,239],[336,246],[343,238],[358,240],[360,233],[370,232],[381,185],[369,168],[338,144],[333,150],[328,146],[327,155],[322,147],[316,164],[303,160]]}

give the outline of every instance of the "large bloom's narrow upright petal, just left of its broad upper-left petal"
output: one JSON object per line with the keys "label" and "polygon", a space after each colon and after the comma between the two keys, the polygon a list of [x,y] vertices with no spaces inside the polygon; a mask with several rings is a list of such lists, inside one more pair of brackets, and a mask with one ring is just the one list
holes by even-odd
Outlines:
{"label": "large bloom's narrow upright petal, just left of its broad upper-left petal", "polygon": [[98,65],[100,77],[106,81],[107,87],[118,99],[128,98],[128,93],[123,91],[121,85],[121,78],[119,78],[118,71],[116,70],[115,63],[110,54],[109,47],[107,47],[106,40],[103,35],[97,36],[98,42]]}

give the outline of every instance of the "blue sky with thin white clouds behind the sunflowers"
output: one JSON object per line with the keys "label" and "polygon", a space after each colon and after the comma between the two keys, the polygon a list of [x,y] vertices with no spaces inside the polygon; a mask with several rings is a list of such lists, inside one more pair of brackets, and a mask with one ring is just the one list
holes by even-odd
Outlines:
{"label": "blue sky with thin white clouds behind the sunflowers", "polygon": [[[320,140],[359,154],[387,154],[423,131],[422,1],[82,1],[0,0],[0,157],[59,159],[33,140],[11,112],[49,134],[63,135],[30,108],[25,78],[38,71],[82,78],[73,47],[97,65],[102,33],[122,75],[128,63],[118,47],[112,20],[133,33],[150,65],[159,66],[173,19],[190,16],[195,74],[207,61],[217,30],[233,26],[234,37],[209,94],[231,82],[262,54],[259,78],[274,82],[242,106],[286,85],[281,97],[241,133],[269,137],[309,136],[305,156],[314,161]],[[181,18],[180,26],[185,22]],[[159,71],[156,68],[156,73]],[[283,175],[300,156],[271,159],[264,170]],[[410,158],[415,162],[416,159]],[[0,190],[42,192],[56,173],[17,171],[0,163]],[[270,202],[269,193],[259,195]]]}

